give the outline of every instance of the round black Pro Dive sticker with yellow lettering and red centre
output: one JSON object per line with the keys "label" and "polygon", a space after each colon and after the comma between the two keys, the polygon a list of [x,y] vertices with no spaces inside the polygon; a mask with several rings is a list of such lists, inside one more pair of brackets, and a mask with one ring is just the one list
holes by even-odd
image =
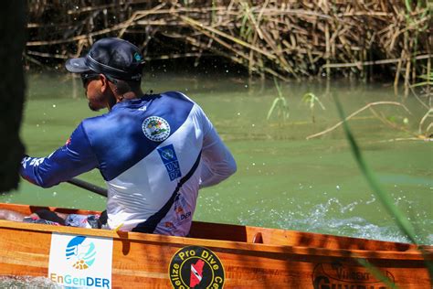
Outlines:
{"label": "round black Pro Dive sticker with yellow lettering and red centre", "polygon": [[188,246],[176,252],[170,262],[174,288],[222,288],[224,267],[216,254],[205,247]]}

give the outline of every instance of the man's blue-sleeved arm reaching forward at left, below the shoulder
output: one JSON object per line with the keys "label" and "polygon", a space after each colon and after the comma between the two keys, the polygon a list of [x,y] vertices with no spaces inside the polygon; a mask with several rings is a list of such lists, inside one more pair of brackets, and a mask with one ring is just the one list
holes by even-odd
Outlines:
{"label": "man's blue-sleeved arm reaching forward at left, below the shoulder", "polygon": [[47,157],[26,156],[20,174],[40,187],[52,187],[98,166],[89,138],[80,123],[65,145]]}

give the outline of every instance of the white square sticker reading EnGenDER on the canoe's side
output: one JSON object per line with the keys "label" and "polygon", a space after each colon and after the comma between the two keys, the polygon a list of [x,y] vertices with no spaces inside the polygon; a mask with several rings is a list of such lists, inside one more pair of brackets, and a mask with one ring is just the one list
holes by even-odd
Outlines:
{"label": "white square sticker reading EnGenDER on the canoe's side", "polygon": [[111,288],[112,239],[52,233],[48,279],[72,288]]}

